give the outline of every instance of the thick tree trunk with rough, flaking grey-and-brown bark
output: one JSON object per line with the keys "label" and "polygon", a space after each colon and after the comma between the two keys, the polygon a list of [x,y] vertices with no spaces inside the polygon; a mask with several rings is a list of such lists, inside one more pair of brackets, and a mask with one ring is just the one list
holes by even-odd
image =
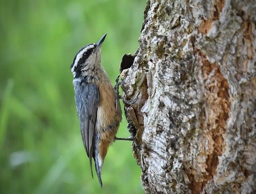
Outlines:
{"label": "thick tree trunk with rough, flaking grey-and-brown bark", "polygon": [[148,0],[144,14],[121,77],[146,193],[256,193],[255,0]]}

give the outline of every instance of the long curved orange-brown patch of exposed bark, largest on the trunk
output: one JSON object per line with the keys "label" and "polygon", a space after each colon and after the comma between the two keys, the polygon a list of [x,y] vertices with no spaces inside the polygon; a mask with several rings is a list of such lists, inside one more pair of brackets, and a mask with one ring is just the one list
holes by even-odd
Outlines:
{"label": "long curved orange-brown patch of exposed bark, largest on the trunk", "polygon": [[[192,193],[200,193],[203,186],[216,174],[219,161],[224,149],[223,134],[226,131],[226,121],[230,112],[230,96],[228,93],[229,84],[220,71],[217,63],[210,63],[206,56],[200,53],[202,62],[202,77],[204,80],[205,113],[202,116],[202,131],[206,138],[211,138],[214,142],[209,145],[206,160],[206,172],[198,181],[190,174],[190,189]],[[212,147],[211,147],[212,146]]]}

